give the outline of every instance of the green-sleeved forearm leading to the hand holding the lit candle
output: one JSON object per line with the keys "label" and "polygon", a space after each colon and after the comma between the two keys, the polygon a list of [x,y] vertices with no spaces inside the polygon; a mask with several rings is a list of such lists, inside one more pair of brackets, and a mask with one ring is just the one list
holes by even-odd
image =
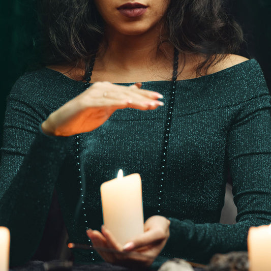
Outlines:
{"label": "green-sleeved forearm leading to the hand holding the lit candle", "polygon": [[233,225],[220,223],[195,224],[191,220],[170,220],[170,237],[165,251],[207,263],[216,253],[247,250],[247,234],[251,226],[270,224],[269,219],[242,221]]}

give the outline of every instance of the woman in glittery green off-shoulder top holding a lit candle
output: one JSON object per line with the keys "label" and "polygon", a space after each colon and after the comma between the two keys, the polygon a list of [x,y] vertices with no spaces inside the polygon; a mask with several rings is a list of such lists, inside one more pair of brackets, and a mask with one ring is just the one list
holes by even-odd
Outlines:
{"label": "woman in glittery green off-shoulder top holding a lit candle", "polygon": [[[271,221],[270,96],[257,62],[232,54],[242,32],[221,1],[47,0],[42,11],[47,67],[14,85],[4,127],[12,264],[35,252],[54,188],[70,242],[150,256],[74,250],[76,262],[156,268],[246,250],[249,227]],[[119,168],[141,175],[146,219],[124,247],[99,231],[99,188]],[[235,225],[218,223],[228,170]]]}

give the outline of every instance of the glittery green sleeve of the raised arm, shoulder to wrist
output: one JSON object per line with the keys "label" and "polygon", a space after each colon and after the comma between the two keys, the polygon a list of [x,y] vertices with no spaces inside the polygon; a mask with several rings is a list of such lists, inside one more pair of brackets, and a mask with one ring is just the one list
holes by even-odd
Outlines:
{"label": "glittery green sleeve of the raised arm, shoulder to wrist", "polygon": [[39,245],[59,167],[72,140],[42,133],[40,125],[53,109],[42,97],[29,95],[33,87],[37,84],[23,80],[14,85],[4,124],[0,224],[11,231],[11,266],[28,261]]}

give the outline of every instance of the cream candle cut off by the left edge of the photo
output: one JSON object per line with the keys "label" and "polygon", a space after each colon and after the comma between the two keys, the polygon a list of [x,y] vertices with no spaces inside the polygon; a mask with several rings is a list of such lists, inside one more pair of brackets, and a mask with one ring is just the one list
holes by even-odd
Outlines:
{"label": "cream candle cut off by the left edge of the photo", "polygon": [[0,271],[9,270],[10,231],[0,227]]}

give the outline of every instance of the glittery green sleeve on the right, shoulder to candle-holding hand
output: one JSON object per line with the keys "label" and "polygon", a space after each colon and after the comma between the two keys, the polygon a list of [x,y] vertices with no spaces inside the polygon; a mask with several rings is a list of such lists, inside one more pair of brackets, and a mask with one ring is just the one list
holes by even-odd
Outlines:
{"label": "glittery green sleeve on the right, shoulder to candle-holding hand", "polygon": [[268,89],[259,87],[254,98],[236,105],[227,136],[237,223],[195,224],[170,218],[166,250],[173,255],[208,262],[215,253],[247,250],[248,229],[271,223],[271,106]]}

